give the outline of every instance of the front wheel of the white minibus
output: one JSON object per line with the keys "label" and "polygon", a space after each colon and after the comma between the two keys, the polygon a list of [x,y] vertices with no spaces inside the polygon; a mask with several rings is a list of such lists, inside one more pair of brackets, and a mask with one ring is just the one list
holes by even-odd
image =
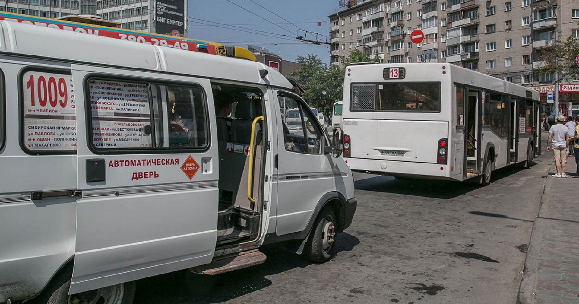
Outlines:
{"label": "front wheel of the white minibus", "polygon": [[307,240],[307,257],[312,262],[323,263],[331,257],[336,243],[336,214],[332,207],[325,207],[318,215]]}

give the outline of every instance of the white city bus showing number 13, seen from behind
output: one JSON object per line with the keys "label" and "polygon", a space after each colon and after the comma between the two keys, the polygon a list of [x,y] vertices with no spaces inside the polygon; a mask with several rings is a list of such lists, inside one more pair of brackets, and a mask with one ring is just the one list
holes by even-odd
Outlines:
{"label": "white city bus showing number 13, seen from behind", "polygon": [[540,152],[535,90],[447,63],[346,69],[343,156],[351,170],[489,184]]}

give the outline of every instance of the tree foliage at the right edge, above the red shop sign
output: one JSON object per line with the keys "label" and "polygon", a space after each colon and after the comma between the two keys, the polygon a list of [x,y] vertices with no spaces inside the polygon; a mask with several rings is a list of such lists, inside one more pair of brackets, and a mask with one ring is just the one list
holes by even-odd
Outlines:
{"label": "tree foliage at the right edge, above the red shop sign", "polygon": [[545,61],[543,67],[537,69],[537,74],[558,73],[559,79],[566,79],[573,75],[579,75],[579,66],[575,62],[579,54],[579,41],[569,36],[566,41],[544,49],[538,56],[539,61]]}

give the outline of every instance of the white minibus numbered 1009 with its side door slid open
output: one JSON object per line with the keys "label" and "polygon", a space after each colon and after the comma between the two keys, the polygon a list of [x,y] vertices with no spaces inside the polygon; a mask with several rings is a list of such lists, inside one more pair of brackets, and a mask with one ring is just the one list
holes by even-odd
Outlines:
{"label": "white minibus numbered 1009 with its side door slid open", "polygon": [[351,171],[274,69],[5,20],[0,41],[0,303],[130,303],[267,243],[324,262],[350,225]]}

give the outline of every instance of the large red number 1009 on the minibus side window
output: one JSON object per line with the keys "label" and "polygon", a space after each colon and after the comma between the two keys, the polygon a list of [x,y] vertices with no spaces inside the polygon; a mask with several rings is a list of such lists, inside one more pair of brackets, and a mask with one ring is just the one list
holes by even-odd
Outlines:
{"label": "large red number 1009 on the minibus side window", "polygon": [[[30,75],[28,82],[26,82],[26,88],[30,89],[32,106],[35,105],[36,98],[38,98],[38,104],[41,107],[46,107],[46,102],[53,108],[56,108],[58,104],[60,104],[61,108],[67,106],[67,80],[62,77],[56,80],[56,78],[50,76],[47,81],[45,76],[38,76],[37,79],[34,79],[34,75]],[[36,93],[38,93],[38,96]]]}

